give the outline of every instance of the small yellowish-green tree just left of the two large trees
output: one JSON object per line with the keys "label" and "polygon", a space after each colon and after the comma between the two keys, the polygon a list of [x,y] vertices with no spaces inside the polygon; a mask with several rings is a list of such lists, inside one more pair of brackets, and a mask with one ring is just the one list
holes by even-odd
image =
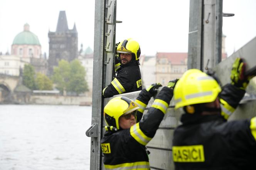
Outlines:
{"label": "small yellowish-green tree just left of the two large trees", "polygon": [[38,90],[52,90],[52,81],[42,73],[37,73],[35,84]]}

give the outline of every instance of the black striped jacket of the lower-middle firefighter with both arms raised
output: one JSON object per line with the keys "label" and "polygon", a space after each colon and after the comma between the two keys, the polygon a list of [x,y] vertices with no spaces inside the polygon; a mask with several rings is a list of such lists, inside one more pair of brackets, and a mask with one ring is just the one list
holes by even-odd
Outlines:
{"label": "black striped jacket of the lower-middle firefighter with both arms raised", "polygon": [[[154,137],[160,122],[173,96],[173,90],[163,87],[157,95],[152,107],[138,123],[129,129],[117,132],[106,132],[101,139],[106,170],[150,169],[145,145]],[[135,100],[139,105],[146,106],[150,100],[147,90],[143,89]],[[141,110],[143,112],[143,109]]]}

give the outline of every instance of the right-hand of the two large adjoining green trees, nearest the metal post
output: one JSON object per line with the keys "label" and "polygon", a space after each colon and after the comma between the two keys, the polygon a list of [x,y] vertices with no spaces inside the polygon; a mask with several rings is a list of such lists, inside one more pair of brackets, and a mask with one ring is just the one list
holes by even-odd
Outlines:
{"label": "right-hand of the two large adjoining green trees, nearest the metal post", "polygon": [[75,92],[77,95],[88,91],[88,85],[86,80],[84,79],[86,76],[86,72],[79,60],[73,60],[70,63],[70,68],[71,76],[69,78],[67,91]]}

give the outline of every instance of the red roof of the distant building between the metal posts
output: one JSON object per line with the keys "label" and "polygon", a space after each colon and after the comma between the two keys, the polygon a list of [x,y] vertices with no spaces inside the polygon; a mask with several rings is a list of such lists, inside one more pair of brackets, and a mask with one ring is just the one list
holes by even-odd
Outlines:
{"label": "red roof of the distant building between the metal posts", "polygon": [[172,64],[183,64],[187,53],[157,53],[157,59],[168,58]]}

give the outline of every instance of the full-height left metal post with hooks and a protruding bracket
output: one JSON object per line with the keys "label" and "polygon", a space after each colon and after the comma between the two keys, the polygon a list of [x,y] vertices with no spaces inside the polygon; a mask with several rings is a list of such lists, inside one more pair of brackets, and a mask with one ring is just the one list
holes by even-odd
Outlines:
{"label": "full-height left metal post with hooks and a protruding bracket", "polygon": [[113,78],[115,23],[116,0],[95,0],[92,125],[86,131],[86,135],[91,137],[90,170],[102,169],[102,90]]}

